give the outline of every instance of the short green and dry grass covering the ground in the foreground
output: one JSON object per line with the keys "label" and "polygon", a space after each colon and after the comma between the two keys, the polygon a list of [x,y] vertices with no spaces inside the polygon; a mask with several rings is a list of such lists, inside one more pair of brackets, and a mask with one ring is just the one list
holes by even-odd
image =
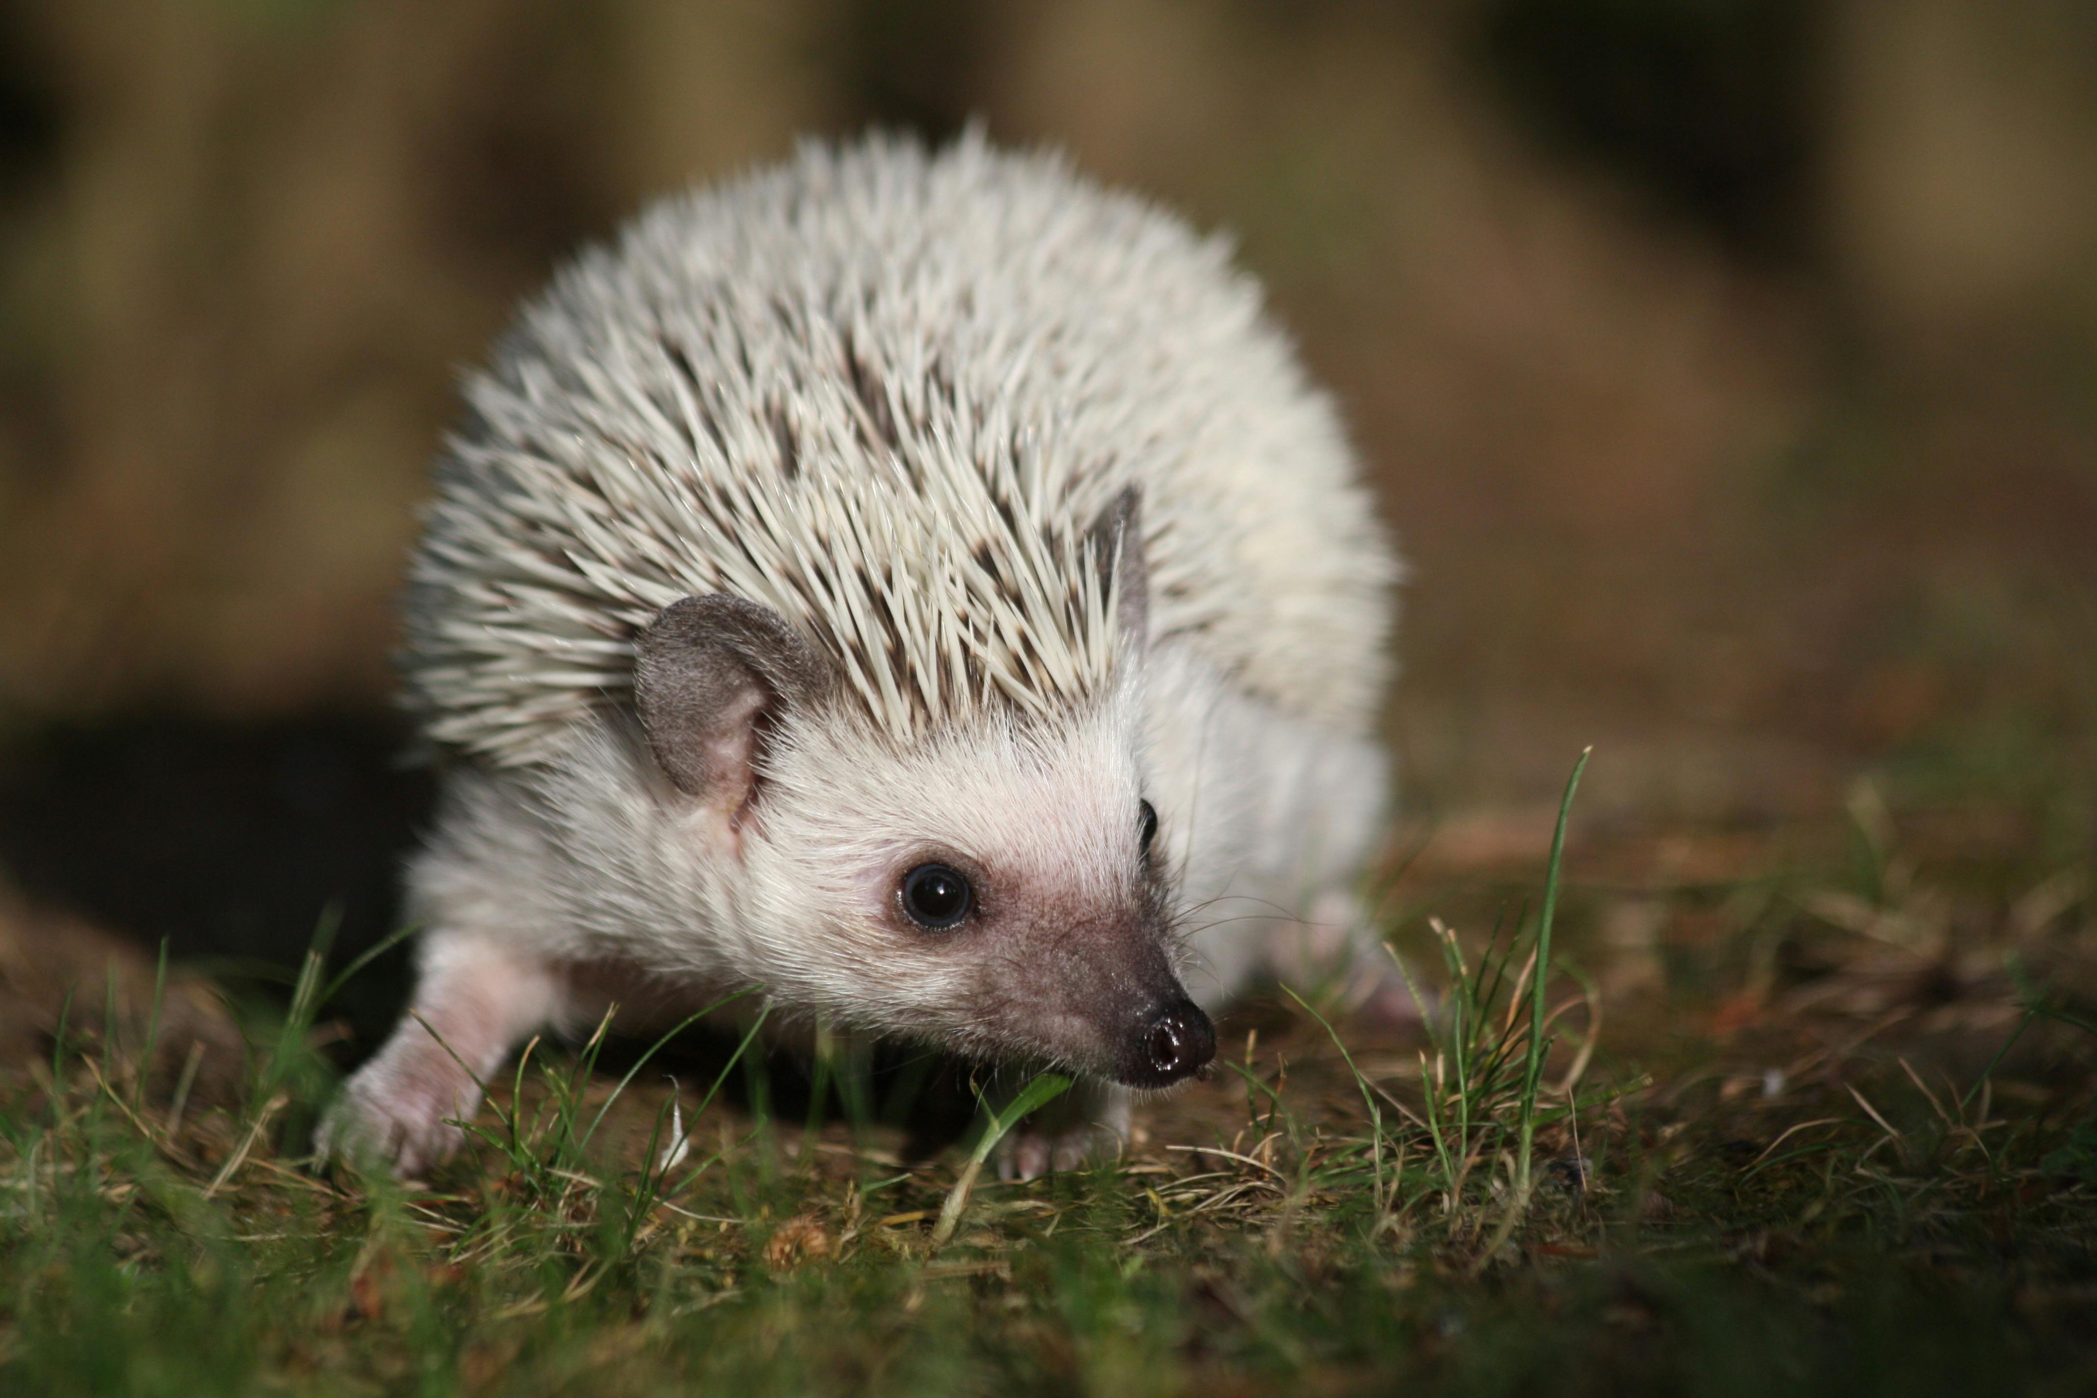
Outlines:
{"label": "short green and dry grass covering the ground in the foreground", "polygon": [[[918,1159],[828,1035],[807,1117],[774,1111],[761,1019],[690,1090],[669,1035],[623,1073],[602,1029],[535,1042],[428,1184],[325,1176],[325,945],[239,1073],[176,1063],[157,1008],[73,1006],[0,1098],[0,1392],[2089,1392],[2097,1035],[2063,962],[2026,947],[1980,1029],[1717,1033],[1720,985],[1602,1040],[1564,826],[1533,920],[1430,924],[1424,1044],[1256,1006],[1124,1159],[1032,1184],[981,1165],[1061,1079]],[[1856,897],[1921,908],[1910,866]],[[1684,899],[1862,947],[1801,989],[1877,985],[1818,889]]]}

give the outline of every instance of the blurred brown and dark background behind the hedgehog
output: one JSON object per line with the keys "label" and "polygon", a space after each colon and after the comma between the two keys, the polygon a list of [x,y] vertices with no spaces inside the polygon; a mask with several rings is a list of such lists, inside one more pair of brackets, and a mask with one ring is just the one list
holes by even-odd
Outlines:
{"label": "blurred brown and dark background behind the hedgehog", "polygon": [[0,998],[382,935],[457,371],[650,195],[971,117],[1229,231],[1336,390],[1424,868],[1594,742],[1631,882],[1843,830],[2087,901],[2084,0],[8,0]]}

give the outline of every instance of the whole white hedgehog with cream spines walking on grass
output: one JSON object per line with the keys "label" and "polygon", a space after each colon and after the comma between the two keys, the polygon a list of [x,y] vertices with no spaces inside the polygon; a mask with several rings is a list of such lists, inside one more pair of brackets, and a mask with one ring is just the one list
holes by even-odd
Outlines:
{"label": "whole white hedgehog with cream spines walking on grass", "polygon": [[1220,241],[979,136],[805,147],[585,254],[466,398],[419,983],[323,1146],[417,1172],[528,1033],[761,985],[1078,1071],[1004,1161],[1067,1167],[1350,905],[1399,566]]}

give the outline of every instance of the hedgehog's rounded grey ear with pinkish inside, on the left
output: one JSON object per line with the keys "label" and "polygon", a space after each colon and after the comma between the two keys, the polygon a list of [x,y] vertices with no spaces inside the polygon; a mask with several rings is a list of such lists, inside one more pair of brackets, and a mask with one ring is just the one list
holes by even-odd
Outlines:
{"label": "hedgehog's rounded grey ear with pinkish inside, on the left", "polygon": [[633,641],[633,708],[656,765],[730,828],[757,786],[759,721],[816,702],[828,679],[784,616],[723,593],[671,602]]}

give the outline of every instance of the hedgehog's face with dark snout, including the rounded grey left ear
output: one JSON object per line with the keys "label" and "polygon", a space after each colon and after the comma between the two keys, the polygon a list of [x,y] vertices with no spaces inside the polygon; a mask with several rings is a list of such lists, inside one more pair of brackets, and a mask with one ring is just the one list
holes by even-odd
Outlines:
{"label": "hedgehog's face with dark snout, including the rounded grey left ear", "polygon": [[1210,1061],[1174,968],[1134,650],[1069,715],[900,744],[776,612],[686,597],[640,637],[635,711],[694,887],[786,1008],[1141,1088]]}

